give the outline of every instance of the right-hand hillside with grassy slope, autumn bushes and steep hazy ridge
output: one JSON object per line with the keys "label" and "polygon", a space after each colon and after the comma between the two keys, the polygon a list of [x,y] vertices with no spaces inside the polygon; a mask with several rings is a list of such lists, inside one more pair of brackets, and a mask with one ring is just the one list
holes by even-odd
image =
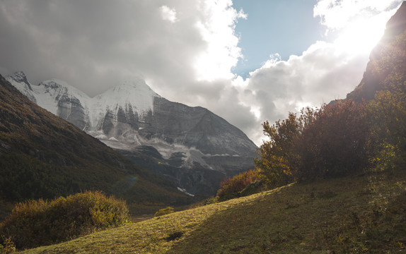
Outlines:
{"label": "right-hand hillside with grassy slope, autumn bushes and steep hazy ridge", "polygon": [[[404,253],[405,13],[404,3],[348,99],[262,125],[260,180],[243,191],[270,191],[24,253]],[[234,179],[243,193],[250,177]]]}

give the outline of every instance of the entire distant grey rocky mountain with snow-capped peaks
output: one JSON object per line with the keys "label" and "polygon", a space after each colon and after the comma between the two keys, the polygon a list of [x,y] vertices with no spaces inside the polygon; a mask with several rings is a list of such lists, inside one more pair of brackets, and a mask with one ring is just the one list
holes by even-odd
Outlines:
{"label": "entire distant grey rocky mountain with snow-capped peaks", "polygon": [[23,72],[7,80],[41,107],[190,193],[215,191],[225,176],[253,167],[256,146],[242,131],[208,109],[168,101],[144,80],[124,81],[95,97],[62,80],[31,85]]}

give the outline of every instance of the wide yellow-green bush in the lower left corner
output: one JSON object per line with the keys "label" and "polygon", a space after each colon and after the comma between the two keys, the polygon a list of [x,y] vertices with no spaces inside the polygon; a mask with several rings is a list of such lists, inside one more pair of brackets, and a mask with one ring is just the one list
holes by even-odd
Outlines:
{"label": "wide yellow-green bush in the lower left corner", "polygon": [[129,222],[127,205],[103,193],[86,192],[50,202],[29,200],[14,207],[0,226],[18,249],[34,248]]}

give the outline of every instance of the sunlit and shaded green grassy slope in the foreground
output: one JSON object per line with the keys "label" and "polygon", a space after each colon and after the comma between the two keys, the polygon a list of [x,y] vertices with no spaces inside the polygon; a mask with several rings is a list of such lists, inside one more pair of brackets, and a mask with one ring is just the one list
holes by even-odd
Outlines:
{"label": "sunlit and shaded green grassy slope in the foreground", "polygon": [[405,172],[378,172],[285,186],[24,253],[405,251],[405,203]]}

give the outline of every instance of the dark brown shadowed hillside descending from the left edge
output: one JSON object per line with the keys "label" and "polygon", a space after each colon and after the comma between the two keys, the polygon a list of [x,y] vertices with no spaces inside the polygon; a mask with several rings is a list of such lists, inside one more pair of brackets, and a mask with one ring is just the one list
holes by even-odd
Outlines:
{"label": "dark brown shadowed hillside descending from the left edge", "polygon": [[[158,204],[190,201],[172,183],[38,107],[1,76],[0,169],[0,203],[100,190],[142,214],[136,204],[149,203],[153,212]],[[0,214],[9,209],[0,205]]]}

